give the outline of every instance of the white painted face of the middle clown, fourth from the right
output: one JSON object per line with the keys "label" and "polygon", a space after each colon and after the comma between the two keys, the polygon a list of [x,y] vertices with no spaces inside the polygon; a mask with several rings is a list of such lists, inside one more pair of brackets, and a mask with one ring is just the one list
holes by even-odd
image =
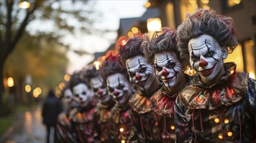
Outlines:
{"label": "white painted face of the middle clown, fourth from the right", "polygon": [[114,73],[106,78],[108,94],[114,101],[122,105],[131,96],[131,83],[121,73]]}

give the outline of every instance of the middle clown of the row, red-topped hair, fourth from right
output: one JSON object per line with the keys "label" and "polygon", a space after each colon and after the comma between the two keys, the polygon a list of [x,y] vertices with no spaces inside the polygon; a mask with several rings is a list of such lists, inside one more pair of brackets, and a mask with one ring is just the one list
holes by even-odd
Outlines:
{"label": "middle clown of the row, red-topped hair, fourth from right", "polygon": [[111,111],[112,138],[118,143],[138,142],[138,134],[133,126],[129,107],[133,85],[127,79],[127,72],[118,61],[118,55],[108,51],[100,69],[108,88],[108,95],[116,102]]}

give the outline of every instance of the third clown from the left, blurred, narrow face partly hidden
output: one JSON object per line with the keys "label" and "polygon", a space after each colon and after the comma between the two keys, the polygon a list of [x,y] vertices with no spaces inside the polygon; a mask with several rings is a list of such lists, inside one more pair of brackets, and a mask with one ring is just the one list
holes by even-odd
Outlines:
{"label": "third clown from the left, blurred, narrow face partly hidden", "polygon": [[88,79],[93,95],[98,99],[99,103],[95,108],[93,119],[95,120],[95,126],[97,127],[97,133],[101,142],[114,142],[111,136],[110,126],[110,111],[114,106],[114,101],[108,95],[106,85],[104,85],[103,78],[99,75],[99,69],[97,70],[95,65],[89,64],[85,70],[86,79]]}

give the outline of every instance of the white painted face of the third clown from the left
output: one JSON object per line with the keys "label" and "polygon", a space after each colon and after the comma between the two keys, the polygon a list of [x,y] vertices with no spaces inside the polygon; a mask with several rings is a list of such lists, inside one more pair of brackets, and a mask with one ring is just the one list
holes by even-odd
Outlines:
{"label": "white painted face of the third clown from the left", "polygon": [[93,77],[90,80],[91,88],[95,97],[102,103],[106,103],[110,100],[106,86],[103,85],[103,78],[101,76]]}

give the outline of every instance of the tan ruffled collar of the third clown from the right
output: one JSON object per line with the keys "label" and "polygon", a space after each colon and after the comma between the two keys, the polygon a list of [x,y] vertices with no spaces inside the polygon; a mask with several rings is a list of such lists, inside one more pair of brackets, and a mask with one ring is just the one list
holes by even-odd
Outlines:
{"label": "tan ruffled collar of the third clown from the right", "polygon": [[[159,85],[155,88],[155,91],[159,90],[162,85]],[[129,99],[130,107],[138,112],[139,114],[144,114],[146,112],[150,112],[152,110],[152,104],[150,103],[150,98],[152,95],[146,94],[142,90],[137,90],[136,94],[133,94]]]}

